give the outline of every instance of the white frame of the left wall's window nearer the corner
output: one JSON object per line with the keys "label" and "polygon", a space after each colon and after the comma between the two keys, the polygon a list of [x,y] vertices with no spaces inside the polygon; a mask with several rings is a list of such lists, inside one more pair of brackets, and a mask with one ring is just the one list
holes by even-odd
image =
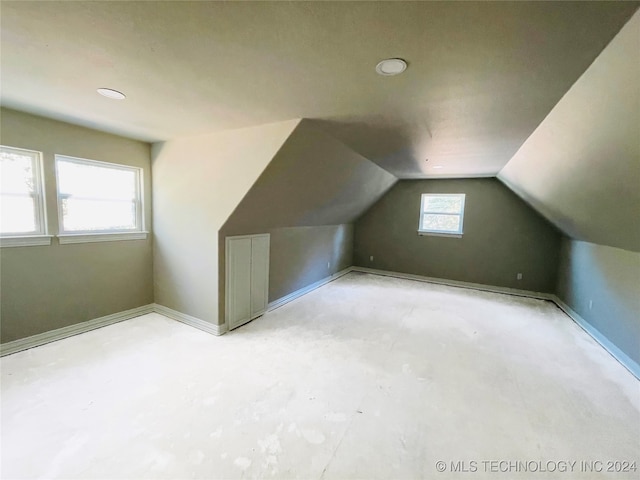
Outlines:
{"label": "white frame of the left wall's window nearer the corner", "polygon": [[[79,165],[90,165],[102,168],[112,168],[115,170],[128,170],[136,174],[136,227],[132,229],[120,230],[64,230],[64,217],[62,212],[62,200],[65,195],[60,193],[60,178],[58,162],[77,163]],[[85,243],[85,242],[111,242],[119,240],[144,240],[149,232],[145,231],[144,219],[144,172],[142,168],[122,165],[119,163],[103,162],[88,158],[71,157],[69,155],[55,155],[56,164],[56,195],[58,199],[58,241],[61,244]]]}

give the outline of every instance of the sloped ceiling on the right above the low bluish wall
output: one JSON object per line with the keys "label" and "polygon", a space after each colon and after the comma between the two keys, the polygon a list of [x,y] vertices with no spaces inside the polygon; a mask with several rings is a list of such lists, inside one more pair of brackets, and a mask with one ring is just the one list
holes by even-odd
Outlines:
{"label": "sloped ceiling on the right above the low bluish wall", "polygon": [[570,237],[640,251],[640,12],[498,178]]}

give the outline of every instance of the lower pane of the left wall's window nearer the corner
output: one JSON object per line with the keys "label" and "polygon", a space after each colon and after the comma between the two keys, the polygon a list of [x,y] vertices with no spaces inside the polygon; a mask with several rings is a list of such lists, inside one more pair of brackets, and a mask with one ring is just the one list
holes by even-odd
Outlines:
{"label": "lower pane of the left wall's window nearer the corner", "polygon": [[62,216],[67,232],[136,228],[136,208],[131,201],[65,198]]}

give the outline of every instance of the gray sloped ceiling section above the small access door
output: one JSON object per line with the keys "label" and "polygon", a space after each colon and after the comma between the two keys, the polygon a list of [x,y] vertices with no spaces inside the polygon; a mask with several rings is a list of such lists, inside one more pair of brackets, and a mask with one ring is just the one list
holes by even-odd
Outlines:
{"label": "gray sloped ceiling section above the small access door", "polygon": [[397,178],[303,120],[221,231],[352,223]]}

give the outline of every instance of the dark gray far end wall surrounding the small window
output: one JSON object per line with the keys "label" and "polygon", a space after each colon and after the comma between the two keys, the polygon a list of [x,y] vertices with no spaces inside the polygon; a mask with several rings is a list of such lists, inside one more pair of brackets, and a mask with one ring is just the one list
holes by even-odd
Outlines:
{"label": "dark gray far end wall surrounding the small window", "polygon": [[[423,193],[466,194],[462,238],[417,234]],[[496,179],[401,180],[356,222],[354,264],[554,292],[560,238]]]}

